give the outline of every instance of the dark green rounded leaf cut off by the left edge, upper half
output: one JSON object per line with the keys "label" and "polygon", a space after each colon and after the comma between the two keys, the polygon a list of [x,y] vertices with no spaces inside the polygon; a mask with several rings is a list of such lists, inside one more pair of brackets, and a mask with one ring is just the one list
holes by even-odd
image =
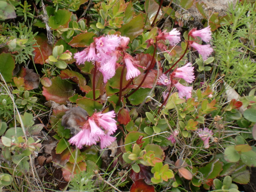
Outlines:
{"label": "dark green rounded leaf cut off by the left edge, upper half", "polygon": [[13,78],[14,68],[15,68],[15,61],[13,59],[13,56],[11,56],[11,53],[1,53],[0,54],[1,81],[10,82]]}

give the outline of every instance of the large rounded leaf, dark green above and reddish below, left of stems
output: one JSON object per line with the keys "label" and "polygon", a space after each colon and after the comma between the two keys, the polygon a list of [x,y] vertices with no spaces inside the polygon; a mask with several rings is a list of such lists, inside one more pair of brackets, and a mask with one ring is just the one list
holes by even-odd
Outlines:
{"label": "large rounded leaf, dark green above and reddish below, left of stems", "polygon": [[74,95],[72,84],[66,80],[62,80],[59,76],[53,77],[52,86],[43,87],[43,96],[47,101],[55,101],[58,104],[67,104],[68,97]]}

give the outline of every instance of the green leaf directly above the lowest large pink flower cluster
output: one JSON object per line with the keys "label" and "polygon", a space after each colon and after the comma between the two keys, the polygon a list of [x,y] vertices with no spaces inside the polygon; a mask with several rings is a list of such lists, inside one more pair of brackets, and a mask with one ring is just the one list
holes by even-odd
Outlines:
{"label": "green leaf directly above the lowest large pink flower cluster", "polygon": [[76,104],[80,106],[82,109],[86,110],[90,116],[94,114],[95,109],[101,110],[103,107],[103,105],[100,104],[100,102],[85,97],[82,99],[77,99]]}

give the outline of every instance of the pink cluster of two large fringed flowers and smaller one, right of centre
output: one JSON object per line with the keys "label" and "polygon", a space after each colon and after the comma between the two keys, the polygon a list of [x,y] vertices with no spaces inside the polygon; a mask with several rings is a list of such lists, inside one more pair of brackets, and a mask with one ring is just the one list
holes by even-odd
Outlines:
{"label": "pink cluster of two large fringed flowers and smaller one, right of centre", "polygon": [[[192,83],[195,79],[194,76],[194,67],[191,67],[191,63],[185,64],[183,67],[176,68],[171,73],[171,79],[167,77],[165,74],[161,75],[161,77],[158,79],[158,82],[162,85],[173,85],[177,88],[179,91],[179,97],[183,98],[186,96],[186,99],[191,98],[193,87],[187,87],[184,85],[181,85],[177,80],[174,80],[174,78],[182,78],[188,83]],[[166,94],[163,94],[166,97]]]}

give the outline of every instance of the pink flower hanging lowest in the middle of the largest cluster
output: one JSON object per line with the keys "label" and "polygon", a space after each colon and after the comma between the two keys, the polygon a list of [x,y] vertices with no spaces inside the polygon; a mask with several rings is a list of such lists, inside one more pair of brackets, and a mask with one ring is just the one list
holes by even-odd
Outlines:
{"label": "pink flower hanging lowest in the middle of the largest cluster", "polygon": [[117,54],[113,56],[104,64],[101,64],[99,70],[103,75],[103,81],[106,83],[110,78],[115,75],[115,64],[117,63]]}

